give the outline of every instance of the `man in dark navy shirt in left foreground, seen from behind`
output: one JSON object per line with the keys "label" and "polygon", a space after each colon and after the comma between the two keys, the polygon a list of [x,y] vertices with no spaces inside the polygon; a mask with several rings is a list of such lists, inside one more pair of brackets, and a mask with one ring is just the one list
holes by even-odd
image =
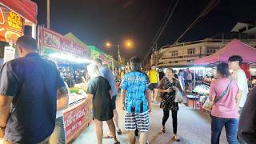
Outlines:
{"label": "man in dark navy shirt in left foreground, seen from behind", "polygon": [[66,86],[57,68],[37,53],[34,38],[18,38],[17,48],[20,58],[0,71],[0,138],[4,143],[48,143],[57,99],[66,99]]}

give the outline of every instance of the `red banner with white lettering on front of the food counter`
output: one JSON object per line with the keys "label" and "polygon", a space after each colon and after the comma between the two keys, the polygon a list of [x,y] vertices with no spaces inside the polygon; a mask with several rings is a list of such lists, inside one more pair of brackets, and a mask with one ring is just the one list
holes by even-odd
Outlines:
{"label": "red banner with white lettering on front of the food counter", "polygon": [[90,122],[90,99],[86,99],[76,106],[64,111],[66,142],[70,142],[81,133],[81,130]]}

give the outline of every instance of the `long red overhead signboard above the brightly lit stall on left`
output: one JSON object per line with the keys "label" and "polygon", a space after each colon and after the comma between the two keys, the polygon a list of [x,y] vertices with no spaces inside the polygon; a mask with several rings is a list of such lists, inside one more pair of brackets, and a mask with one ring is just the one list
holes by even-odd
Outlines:
{"label": "long red overhead signboard above the brightly lit stall on left", "polygon": [[88,57],[90,55],[90,50],[87,50],[61,34],[54,32],[53,30],[41,27],[40,38],[40,44],[42,47],[59,50],[81,57]]}

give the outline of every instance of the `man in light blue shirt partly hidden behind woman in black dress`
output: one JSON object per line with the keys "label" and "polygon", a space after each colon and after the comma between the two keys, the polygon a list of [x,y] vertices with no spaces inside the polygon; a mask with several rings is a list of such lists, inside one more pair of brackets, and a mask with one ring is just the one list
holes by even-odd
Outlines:
{"label": "man in light blue shirt partly hidden behind woman in black dress", "polygon": [[[113,107],[113,113],[114,113],[114,126],[118,134],[122,134],[121,129],[118,125],[118,111],[116,110],[116,99],[118,95],[118,90],[115,86],[115,79],[112,70],[110,70],[109,67],[102,65],[101,59],[95,59],[95,63],[98,66],[99,72],[102,75],[102,77],[106,78],[106,80],[110,83],[111,91],[112,91],[112,107]],[[104,138],[112,138],[110,135],[104,136]]]}

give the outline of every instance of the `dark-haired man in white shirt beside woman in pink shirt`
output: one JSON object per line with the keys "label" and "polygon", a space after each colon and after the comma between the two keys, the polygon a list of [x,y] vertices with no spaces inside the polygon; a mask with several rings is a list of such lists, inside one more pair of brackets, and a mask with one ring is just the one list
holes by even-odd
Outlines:
{"label": "dark-haired man in white shirt beside woman in pink shirt", "polygon": [[242,65],[242,57],[239,55],[234,55],[229,58],[229,66],[230,69],[233,70],[232,77],[235,82],[238,84],[238,96],[237,96],[237,104],[240,108],[240,112],[242,111],[242,107],[244,106],[247,98],[248,83],[246,78],[246,73],[241,69]]}

